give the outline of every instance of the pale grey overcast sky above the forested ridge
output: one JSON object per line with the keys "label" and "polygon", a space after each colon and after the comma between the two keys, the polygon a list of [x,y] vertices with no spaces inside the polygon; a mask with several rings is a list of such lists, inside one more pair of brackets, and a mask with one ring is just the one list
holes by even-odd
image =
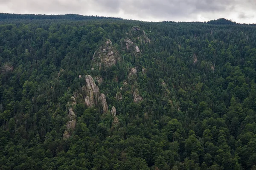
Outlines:
{"label": "pale grey overcast sky above the forested ridge", "polygon": [[82,14],[143,21],[256,23],[256,0],[0,0],[0,12]]}

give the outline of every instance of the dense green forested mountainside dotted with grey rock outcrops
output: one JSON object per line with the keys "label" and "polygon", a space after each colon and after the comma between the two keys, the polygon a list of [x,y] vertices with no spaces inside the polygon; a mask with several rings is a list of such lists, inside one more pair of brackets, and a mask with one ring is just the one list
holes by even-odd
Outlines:
{"label": "dense green forested mountainside dotted with grey rock outcrops", "polygon": [[0,14],[1,170],[256,170],[256,26]]}

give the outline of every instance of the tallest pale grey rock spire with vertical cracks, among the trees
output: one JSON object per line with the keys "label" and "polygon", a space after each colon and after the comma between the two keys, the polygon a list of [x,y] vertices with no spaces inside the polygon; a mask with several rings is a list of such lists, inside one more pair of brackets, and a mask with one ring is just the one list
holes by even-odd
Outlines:
{"label": "tallest pale grey rock spire with vertical cracks, among the trees", "polygon": [[85,76],[86,85],[82,87],[82,91],[85,97],[85,104],[88,107],[98,105],[99,101],[99,88],[96,86],[93,77],[90,75]]}

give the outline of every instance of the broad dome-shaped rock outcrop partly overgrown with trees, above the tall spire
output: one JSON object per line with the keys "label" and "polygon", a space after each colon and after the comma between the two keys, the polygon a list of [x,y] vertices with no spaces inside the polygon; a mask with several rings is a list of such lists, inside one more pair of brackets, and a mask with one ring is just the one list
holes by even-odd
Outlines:
{"label": "broad dome-shaped rock outcrop partly overgrown with trees, above the tall spire", "polygon": [[112,46],[111,40],[106,41],[98,50],[93,54],[93,61],[101,68],[102,64],[106,67],[111,67],[116,64],[116,61],[120,60],[119,54]]}

